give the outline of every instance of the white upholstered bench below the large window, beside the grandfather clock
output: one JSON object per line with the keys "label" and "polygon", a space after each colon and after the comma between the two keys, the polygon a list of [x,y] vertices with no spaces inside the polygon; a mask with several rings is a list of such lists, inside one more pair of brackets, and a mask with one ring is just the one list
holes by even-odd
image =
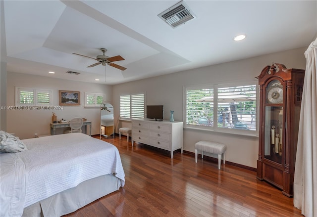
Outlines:
{"label": "white upholstered bench below the large window, beside the grandfather clock", "polygon": [[195,162],[197,163],[198,151],[202,151],[202,158],[204,158],[204,151],[218,155],[218,170],[221,165],[221,155],[223,154],[223,164],[225,164],[227,147],[218,142],[199,141],[195,144]]}

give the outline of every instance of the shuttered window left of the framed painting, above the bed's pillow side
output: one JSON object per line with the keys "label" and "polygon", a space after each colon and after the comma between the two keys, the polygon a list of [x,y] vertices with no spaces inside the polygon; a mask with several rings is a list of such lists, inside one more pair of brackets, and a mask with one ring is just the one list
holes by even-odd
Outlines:
{"label": "shuttered window left of the framed painting, above the bed's pillow side", "polygon": [[52,90],[15,87],[16,106],[51,106]]}

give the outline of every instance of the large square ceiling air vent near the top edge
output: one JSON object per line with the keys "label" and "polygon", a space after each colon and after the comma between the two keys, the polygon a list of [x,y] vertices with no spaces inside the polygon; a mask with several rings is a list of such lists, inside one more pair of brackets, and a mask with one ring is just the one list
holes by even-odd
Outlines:
{"label": "large square ceiling air vent near the top edge", "polygon": [[183,1],[180,1],[174,6],[161,12],[158,16],[172,28],[182,25],[195,18],[195,15],[193,12],[191,12],[191,9]]}

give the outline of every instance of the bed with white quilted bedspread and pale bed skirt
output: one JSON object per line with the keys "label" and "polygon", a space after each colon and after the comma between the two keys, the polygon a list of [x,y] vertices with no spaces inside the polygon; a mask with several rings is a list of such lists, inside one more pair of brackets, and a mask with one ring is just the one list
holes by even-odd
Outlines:
{"label": "bed with white quilted bedspread and pale bed skirt", "polygon": [[59,217],[124,186],[110,143],[83,133],[21,142],[27,150],[0,155],[1,217]]}

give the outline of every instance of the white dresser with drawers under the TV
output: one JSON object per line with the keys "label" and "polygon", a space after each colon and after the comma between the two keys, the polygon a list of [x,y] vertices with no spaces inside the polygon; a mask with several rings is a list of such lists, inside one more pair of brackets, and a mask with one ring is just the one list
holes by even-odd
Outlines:
{"label": "white dresser with drawers under the TV", "polygon": [[134,142],[170,151],[170,158],[177,149],[183,154],[183,122],[133,119],[132,146]]}

